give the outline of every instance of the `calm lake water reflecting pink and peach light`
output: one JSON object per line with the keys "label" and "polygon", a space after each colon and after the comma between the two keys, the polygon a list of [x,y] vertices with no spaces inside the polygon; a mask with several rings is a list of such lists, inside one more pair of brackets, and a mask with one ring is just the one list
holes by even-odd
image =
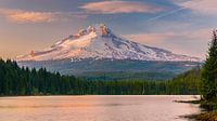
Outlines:
{"label": "calm lake water reflecting pink and peach light", "polygon": [[0,121],[188,121],[195,96],[24,96],[0,98]]}

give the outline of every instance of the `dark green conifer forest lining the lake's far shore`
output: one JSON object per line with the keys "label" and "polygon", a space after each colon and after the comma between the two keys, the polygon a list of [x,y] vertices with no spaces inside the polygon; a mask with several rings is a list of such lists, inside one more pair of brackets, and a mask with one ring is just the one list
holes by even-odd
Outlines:
{"label": "dark green conifer forest lining the lake's far shore", "polygon": [[171,80],[91,81],[74,76],[20,67],[0,59],[0,96],[8,95],[156,95],[199,94],[201,69],[196,67]]}

